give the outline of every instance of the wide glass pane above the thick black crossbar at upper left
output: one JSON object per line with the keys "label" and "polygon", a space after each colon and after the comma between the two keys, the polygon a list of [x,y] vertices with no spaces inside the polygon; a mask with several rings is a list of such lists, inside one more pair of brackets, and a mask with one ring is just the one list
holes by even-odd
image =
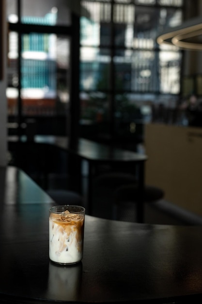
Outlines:
{"label": "wide glass pane above the thick black crossbar at upper left", "polygon": [[42,25],[71,24],[66,0],[22,0],[22,23]]}

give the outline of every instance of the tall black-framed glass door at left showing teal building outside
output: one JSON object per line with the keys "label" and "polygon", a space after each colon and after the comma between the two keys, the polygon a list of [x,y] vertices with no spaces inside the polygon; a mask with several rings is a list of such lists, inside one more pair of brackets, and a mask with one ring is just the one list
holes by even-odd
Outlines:
{"label": "tall black-framed glass door at left showing teal building outside", "polygon": [[66,135],[71,47],[67,2],[7,0],[7,19],[8,135]]}

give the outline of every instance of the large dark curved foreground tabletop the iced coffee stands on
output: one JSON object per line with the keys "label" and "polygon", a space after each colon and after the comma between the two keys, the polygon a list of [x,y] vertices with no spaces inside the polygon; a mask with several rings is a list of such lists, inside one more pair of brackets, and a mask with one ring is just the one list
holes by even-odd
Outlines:
{"label": "large dark curved foreground tabletop the iced coffee stands on", "polygon": [[[48,258],[51,199],[20,170],[0,172],[1,304],[201,303],[202,226],[86,216],[82,262],[60,267]],[[25,200],[5,197],[26,183],[35,190]]]}

